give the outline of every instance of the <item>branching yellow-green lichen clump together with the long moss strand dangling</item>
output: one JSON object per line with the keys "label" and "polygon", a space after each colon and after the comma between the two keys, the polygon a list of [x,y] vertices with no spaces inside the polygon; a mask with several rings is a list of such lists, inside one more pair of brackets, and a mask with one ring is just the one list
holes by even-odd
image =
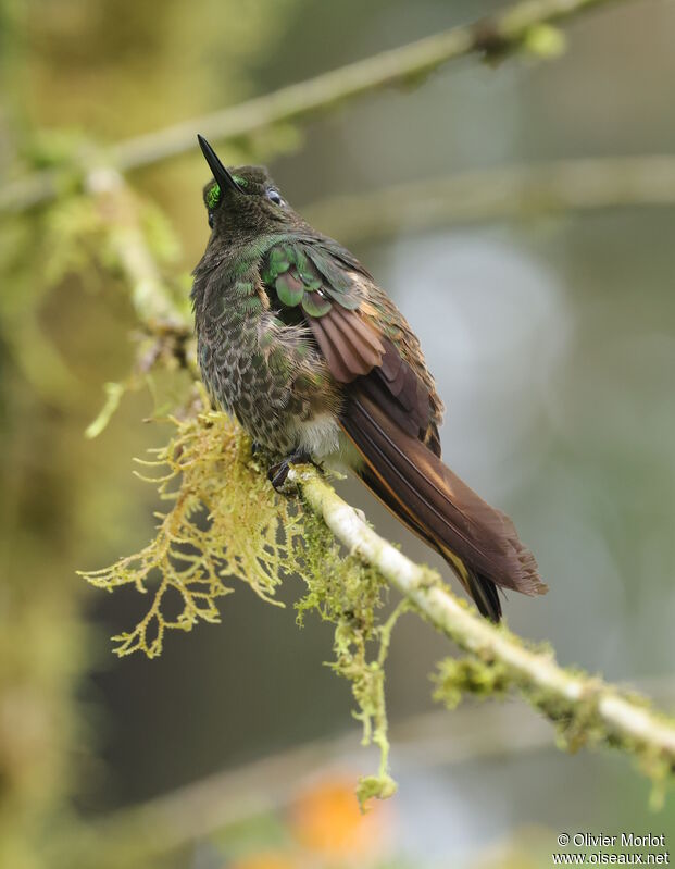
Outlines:
{"label": "branching yellow-green lichen clump together with the long moss strand dangling", "polygon": [[[278,604],[274,595],[284,576],[300,575],[307,594],[297,604],[298,622],[316,611],[335,625],[335,660],[328,666],[351,682],[363,743],[379,749],[378,772],[360,780],[359,800],[363,806],[372,797],[391,796],[384,665],[391,631],[408,605],[379,619],[383,576],[357,556],[341,554],[324,522],[299,499],[274,491],[265,462],[251,456],[249,438],[226,414],[204,408],[172,422],[176,431],[168,444],[141,462],[149,469],[142,479],[170,505],[157,513],[157,535],[140,553],[83,574],[109,592],[134,585],[151,594],[140,622],[113,637],[115,653],[154,658],[167,631],[218,622],[220,598],[233,591],[234,578]],[[176,599],[179,612],[170,616]]]}

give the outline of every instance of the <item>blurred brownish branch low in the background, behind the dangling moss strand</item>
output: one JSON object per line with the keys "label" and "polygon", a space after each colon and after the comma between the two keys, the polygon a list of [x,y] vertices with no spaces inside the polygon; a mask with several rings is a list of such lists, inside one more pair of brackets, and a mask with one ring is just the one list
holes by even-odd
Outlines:
{"label": "blurred brownish branch low in the background, behind the dangling moss strand", "polygon": [[[672,680],[640,681],[640,687],[661,700],[675,698]],[[390,735],[397,768],[414,770],[554,745],[546,722],[527,716],[518,704],[467,705],[451,718],[445,711],[426,712],[392,724]],[[373,746],[364,749],[358,734],[350,732],[222,770],[91,822],[75,841],[68,837],[62,843],[63,853],[71,869],[89,866],[95,853],[118,853],[121,843],[137,862],[170,854],[255,815],[284,809],[305,782],[317,774],[340,774],[352,762],[359,766],[364,752],[376,754]]]}

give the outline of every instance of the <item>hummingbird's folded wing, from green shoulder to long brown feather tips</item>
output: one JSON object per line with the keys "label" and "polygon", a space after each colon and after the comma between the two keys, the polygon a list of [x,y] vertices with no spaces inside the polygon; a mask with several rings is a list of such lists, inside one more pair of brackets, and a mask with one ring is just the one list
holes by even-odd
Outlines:
{"label": "hummingbird's folded wing, from green shoulder to long brown feather tips", "polygon": [[340,425],[364,460],[363,482],[446,558],[480,611],[498,621],[496,585],[546,591],[534,556],[511,520],[440,460],[440,402],[416,338],[345,253],[300,241],[277,245],[263,283],[280,308],[302,312],[343,385]]}

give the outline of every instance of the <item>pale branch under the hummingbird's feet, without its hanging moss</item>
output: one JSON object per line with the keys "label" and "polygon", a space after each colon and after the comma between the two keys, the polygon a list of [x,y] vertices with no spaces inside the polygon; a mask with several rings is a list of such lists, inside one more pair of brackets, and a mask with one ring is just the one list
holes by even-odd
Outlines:
{"label": "pale branch under the hummingbird's feet, without its hanging moss", "polygon": [[509,681],[548,718],[565,725],[576,721],[585,731],[580,736],[641,753],[675,770],[675,721],[600,679],[564,670],[551,651],[529,649],[504,628],[489,624],[454,597],[435,571],[413,563],[379,537],[314,469],[292,469],[289,477],[350,551],[376,567],[460,648],[503,667]]}

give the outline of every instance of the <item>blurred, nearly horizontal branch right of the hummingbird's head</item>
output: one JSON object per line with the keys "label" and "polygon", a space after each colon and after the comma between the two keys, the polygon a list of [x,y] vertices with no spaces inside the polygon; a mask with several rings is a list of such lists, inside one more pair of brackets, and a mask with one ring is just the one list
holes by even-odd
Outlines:
{"label": "blurred, nearly horizontal branch right of the hummingbird's head", "polygon": [[601,157],[513,165],[338,196],[303,210],[341,241],[542,213],[675,206],[675,157]]}

